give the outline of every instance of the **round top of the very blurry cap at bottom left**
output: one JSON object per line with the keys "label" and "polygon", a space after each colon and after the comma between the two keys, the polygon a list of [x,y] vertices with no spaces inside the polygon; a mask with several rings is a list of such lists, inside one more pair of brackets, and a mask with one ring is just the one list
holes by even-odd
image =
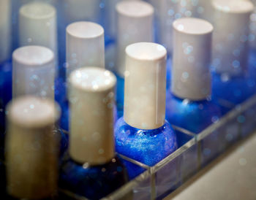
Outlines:
{"label": "round top of the very blurry cap at bottom left", "polygon": [[8,119],[26,128],[50,126],[59,120],[59,106],[50,99],[23,96],[8,105]]}

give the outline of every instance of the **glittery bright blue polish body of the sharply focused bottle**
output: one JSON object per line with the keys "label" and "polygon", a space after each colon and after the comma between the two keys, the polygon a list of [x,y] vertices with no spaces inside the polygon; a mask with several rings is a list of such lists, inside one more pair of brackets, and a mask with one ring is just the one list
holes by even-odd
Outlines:
{"label": "glittery bright blue polish body of the sharply focused bottle", "polygon": [[148,166],[154,166],[177,149],[176,134],[167,121],[160,128],[142,130],[129,126],[124,118],[119,118],[115,139],[116,152]]}

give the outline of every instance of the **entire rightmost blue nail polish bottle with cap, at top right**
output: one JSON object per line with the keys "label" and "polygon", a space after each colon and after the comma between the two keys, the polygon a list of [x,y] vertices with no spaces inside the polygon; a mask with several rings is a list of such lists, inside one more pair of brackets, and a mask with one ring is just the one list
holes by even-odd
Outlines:
{"label": "entire rightmost blue nail polish bottle with cap, at top right", "polygon": [[239,104],[255,93],[255,82],[248,73],[249,18],[254,10],[251,1],[212,2],[213,99]]}

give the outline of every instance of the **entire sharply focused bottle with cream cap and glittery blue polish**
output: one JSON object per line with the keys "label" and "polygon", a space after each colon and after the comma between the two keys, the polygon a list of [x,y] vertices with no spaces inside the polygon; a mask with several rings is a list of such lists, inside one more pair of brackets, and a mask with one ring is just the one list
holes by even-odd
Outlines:
{"label": "entire sharply focused bottle with cream cap and glittery blue polish", "polygon": [[167,52],[162,45],[139,42],[129,45],[126,54],[124,117],[115,126],[116,152],[154,166],[177,148],[176,134],[165,120]]}

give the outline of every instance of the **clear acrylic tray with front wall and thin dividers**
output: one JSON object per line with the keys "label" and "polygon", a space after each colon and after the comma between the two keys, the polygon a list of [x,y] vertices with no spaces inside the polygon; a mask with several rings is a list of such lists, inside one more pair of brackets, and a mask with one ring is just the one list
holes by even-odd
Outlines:
{"label": "clear acrylic tray with front wall and thin dividers", "polygon": [[[230,111],[200,134],[173,126],[178,149],[155,166],[146,166],[120,155],[126,163],[135,164],[144,172],[104,199],[162,199],[230,145],[255,131],[256,94],[236,106],[222,99],[219,102]],[[61,192],[72,199],[85,199],[69,191]]]}

